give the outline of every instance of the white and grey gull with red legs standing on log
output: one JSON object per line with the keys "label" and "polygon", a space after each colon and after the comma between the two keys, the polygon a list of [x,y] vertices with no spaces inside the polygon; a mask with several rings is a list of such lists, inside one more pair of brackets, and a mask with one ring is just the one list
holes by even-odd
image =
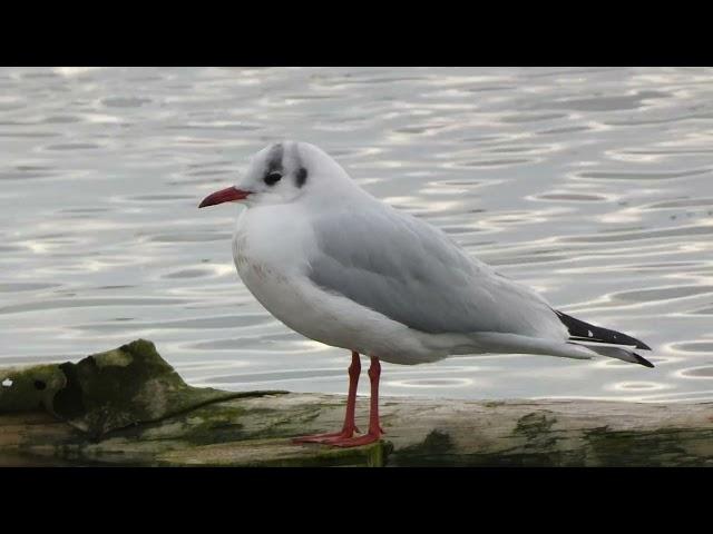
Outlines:
{"label": "white and grey gull with red legs standing on log", "polygon": [[[235,186],[198,207],[223,202],[246,207],[233,236],[233,258],[253,296],[293,330],[351,352],[342,429],[296,443],[352,447],[381,439],[380,360],[603,355],[653,367],[634,352],[651,350],[643,342],[553,308],[439,228],[367,192],[314,145],[265,147]],[[370,358],[365,434],[354,423],[360,355]]]}

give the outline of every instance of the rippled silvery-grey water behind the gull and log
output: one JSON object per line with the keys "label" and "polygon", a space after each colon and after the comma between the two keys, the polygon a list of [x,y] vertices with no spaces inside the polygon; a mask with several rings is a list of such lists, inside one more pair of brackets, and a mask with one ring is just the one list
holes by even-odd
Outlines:
{"label": "rippled silvery-grey water behind the gull and log", "polygon": [[655,369],[384,364],[383,394],[713,399],[701,68],[0,69],[0,365],[144,337],[194,385],[345,393],[349,354],[291,332],[240,281],[242,208],[196,207],[283,138],[559,309],[654,347]]}

